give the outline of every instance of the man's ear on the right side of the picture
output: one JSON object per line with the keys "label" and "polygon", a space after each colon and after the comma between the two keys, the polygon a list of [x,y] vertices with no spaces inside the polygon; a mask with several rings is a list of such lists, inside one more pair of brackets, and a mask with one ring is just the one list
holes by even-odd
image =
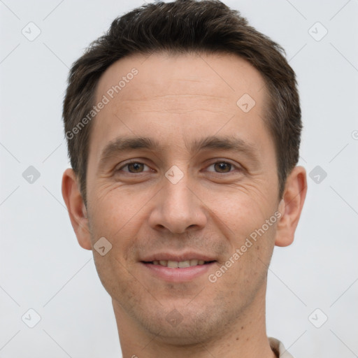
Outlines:
{"label": "man's ear on the right side of the picture", "polygon": [[276,246],[288,246],[294,241],[299,217],[307,193],[306,169],[295,166],[287,177],[285,191],[279,209],[282,216],[276,229]]}

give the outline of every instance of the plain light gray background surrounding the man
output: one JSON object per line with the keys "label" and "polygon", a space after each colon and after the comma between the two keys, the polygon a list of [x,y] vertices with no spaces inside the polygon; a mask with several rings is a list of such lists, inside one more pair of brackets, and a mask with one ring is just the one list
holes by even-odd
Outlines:
{"label": "plain light gray background surrounding the man", "polygon": [[[308,177],[295,241],[275,248],[268,335],[295,358],[358,357],[358,1],[224,2],[287,51],[301,94],[299,164],[327,172],[320,183]],[[0,1],[1,358],[121,357],[110,296],[62,200],[62,100],[73,61],[140,5]],[[29,22],[41,29],[34,41],[22,34]],[[328,31],[320,41],[316,22]],[[22,176],[29,166],[41,173],[32,184]],[[34,320],[29,308],[41,316],[32,329],[22,321]]]}

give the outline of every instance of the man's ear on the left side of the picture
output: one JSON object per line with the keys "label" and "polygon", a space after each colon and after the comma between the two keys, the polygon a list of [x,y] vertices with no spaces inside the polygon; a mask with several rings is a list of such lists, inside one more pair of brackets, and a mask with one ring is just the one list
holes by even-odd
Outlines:
{"label": "man's ear on the left side of the picture", "polygon": [[78,243],[84,249],[92,250],[87,210],[73,169],[64,171],[62,176],[62,196],[67,210],[69,210],[71,224],[76,233]]}

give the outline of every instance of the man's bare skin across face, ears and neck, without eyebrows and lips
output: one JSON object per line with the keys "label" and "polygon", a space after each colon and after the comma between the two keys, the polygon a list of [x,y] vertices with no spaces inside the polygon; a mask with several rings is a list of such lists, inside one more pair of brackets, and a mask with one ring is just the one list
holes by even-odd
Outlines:
{"label": "man's bare skin across face, ears and neck, without eyebrows and lips", "polygon": [[[62,182],[80,245],[92,250],[103,236],[112,244],[106,255],[93,255],[113,300],[122,355],[273,358],[265,322],[268,264],[275,245],[294,240],[307,182],[306,170],[296,166],[278,197],[275,149],[263,120],[264,80],[235,55],[136,55],[103,73],[96,102],[134,67],[138,75],[93,122],[87,208],[72,169]],[[248,113],[236,105],[245,93],[256,102]],[[190,152],[185,145],[213,135],[252,143],[258,161],[232,150]],[[163,148],[118,152],[100,169],[103,148],[126,136],[149,136]],[[128,159],[142,165],[124,166]],[[215,164],[222,161],[232,165]],[[176,184],[164,175],[173,165],[183,174]],[[278,211],[280,220],[210,282],[208,274]],[[166,250],[194,250],[217,262],[190,282],[166,282],[140,263],[143,255]],[[173,309],[181,319],[175,327],[166,320]]]}

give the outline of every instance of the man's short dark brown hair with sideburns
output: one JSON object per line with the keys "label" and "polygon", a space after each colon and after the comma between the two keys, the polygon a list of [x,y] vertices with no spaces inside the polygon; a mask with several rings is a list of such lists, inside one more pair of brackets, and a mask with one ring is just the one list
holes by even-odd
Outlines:
{"label": "man's short dark brown hair with sideburns", "polygon": [[264,120],[275,143],[281,199],[287,175],[299,160],[302,129],[296,76],[282,55],[285,50],[221,1],[176,0],[147,4],[117,17],[71,68],[63,106],[64,128],[84,202],[92,122],[76,135],[73,129],[92,110],[99,78],[122,57],[163,51],[235,54],[261,73],[269,99]]}

